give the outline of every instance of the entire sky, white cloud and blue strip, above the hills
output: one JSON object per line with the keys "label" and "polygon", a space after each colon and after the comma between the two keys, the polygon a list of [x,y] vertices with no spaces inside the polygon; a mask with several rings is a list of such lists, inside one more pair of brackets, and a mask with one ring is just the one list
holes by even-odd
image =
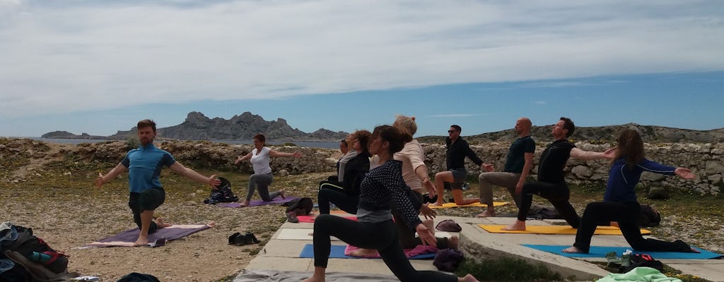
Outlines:
{"label": "entire sky, white cloud and blue strip, above the hills", "polygon": [[0,0],[0,136],[188,113],[724,128],[724,1]]}

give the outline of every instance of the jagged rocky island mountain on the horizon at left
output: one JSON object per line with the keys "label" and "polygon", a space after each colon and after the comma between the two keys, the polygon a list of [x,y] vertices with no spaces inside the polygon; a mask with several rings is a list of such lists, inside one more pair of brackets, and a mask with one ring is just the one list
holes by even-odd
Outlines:
{"label": "jagged rocky island mountain on the horizon at left", "polygon": [[[269,141],[339,141],[349,133],[329,131],[320,128],[313,133],[305,133],[287,124],[287,120],[278,118],[267,121],[259,115],[245,112],[231,119],[207,118],[203,113],[191,112],[180,125],[157,128],[158,138],[180,140],[243,140],[248,141],[258,133],[263,133]],[[118,131],[111,136],[96,136],[98,139],[125,140],[133,136],[138,128],[130,131]],[[48,137],[46,137],[48,136]],[[46,138],[80,138],[67,131],[54,131],[43,134]]]}

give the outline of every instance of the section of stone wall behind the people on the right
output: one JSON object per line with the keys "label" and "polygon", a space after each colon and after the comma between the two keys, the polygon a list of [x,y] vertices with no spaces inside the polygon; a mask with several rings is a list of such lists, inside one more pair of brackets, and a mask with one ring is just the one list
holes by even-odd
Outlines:
{"label": "section of stone wall behind the people on the right", "polygon": [[[549,143],[536,144],[536,153],[533,159],[534,169],[531,177],[536,177],[540,155]],[[508,143],[491,143],[485,145],[471,145],[471,149],[478,154],[483,162],[493,164],[496,170],[502,169],[505,164],[505,155],[508,154]],[[576,147],[585,151],[605,151],[612,144],[589,144],[578,142]],[[426,164],[431,173],[445,169],[445,146],[440,144],[423,144],[426,154]],[[665,187],[681,191],[690,191],[700,195],[717,195],[723,188],[724,175],[724,144],[645,144],[646,157],[661,164],[675,167],[687,167],[696,174],[696,179],[683,180],[679,177],[667,177],[651,172],[641,175],[640,187]],[[569,183],[584,184],[592,182],[605,182],[608,177],[610,162],[607,160],[581,161],[569,159],[565,166],[566,180]],[[480,167],[466,159],[466,169],[471,175],[481,172]]]}

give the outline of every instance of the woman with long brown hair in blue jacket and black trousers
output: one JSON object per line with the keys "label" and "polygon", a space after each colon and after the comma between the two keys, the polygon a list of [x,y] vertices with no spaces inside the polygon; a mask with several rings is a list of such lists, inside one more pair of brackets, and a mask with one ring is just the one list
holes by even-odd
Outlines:
{"label": "woman with long brown hair in blue jacket and black trousers", "polygon": [[694,179],[696,175],[683,167],[670,167],[652,162],[644,157],[644,142],[637,131],[621,131],[615,146],[615,158],[608,172],[606,192],[602,202],[589,203],[576,232],[573,247],[563,252],[588,253],[591,237],[599,222],[618,221],[618,226],[633,250],[647,252],[699,252],[681,240],[666,242],[657,239],[644,239],[639,229],[641,205],[636,200],[636,184],[639,184],[641,172],[654,172],[662,175],[677,175],[683,179]]}

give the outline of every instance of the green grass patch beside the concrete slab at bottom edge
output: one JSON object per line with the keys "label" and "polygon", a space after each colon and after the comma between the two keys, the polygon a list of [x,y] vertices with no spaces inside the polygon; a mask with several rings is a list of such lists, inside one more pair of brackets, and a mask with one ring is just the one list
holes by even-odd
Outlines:
{"label": "green grass patch beside the concrete slab at bottom edge", "polygon": [[497,260],[463,260],[455,274],[472,274],[479,281],[563,281],[559,273],[548,270],[542,263],[531,264],[525,260],[500,257]]}

